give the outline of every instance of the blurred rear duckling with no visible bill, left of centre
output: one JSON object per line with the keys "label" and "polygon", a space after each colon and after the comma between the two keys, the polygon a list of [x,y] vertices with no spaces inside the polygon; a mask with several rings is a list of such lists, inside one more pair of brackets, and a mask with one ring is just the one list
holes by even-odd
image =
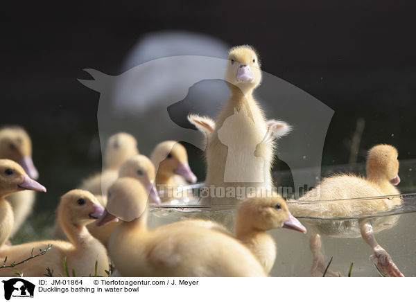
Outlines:
{"label": "blurred rear duckling with no visible bill, left of centre", "polygon": [[119,177],[121,164],[137,154],[139,150],[137,150],[137,141],[134,136],[125,132],[110,136],[105,147],[103,172],[85,179],[80,188],[94,195],[107,195],[108,186]]}

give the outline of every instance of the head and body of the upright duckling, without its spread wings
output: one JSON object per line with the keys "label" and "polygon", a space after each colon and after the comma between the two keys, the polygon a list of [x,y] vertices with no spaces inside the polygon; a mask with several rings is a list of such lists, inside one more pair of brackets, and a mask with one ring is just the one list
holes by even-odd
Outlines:
{"label": "head and body of the upright duckling, without its spread wings", "polygon": [[[220,109],[207,141],[207,187],[271,188],[273,143],[268,125],[253,97],[260,85],[259,58],[250,46],[231,48],[225,80],[231,96]],[[266,139],[266,140],[265,140]],[[206,197],[204,204],[234,204],[234,197]]]}

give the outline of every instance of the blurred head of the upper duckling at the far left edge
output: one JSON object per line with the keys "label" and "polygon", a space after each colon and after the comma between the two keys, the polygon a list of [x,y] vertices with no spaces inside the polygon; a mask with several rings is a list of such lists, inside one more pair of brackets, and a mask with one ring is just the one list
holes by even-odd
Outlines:
{"label": "blurred head of the upper duckling at the far left edge", "polygon": [[0,130],[0,158],[16,161],[32,179],[39,177],[32,160],[31,138],[21,127],[4,127]]}

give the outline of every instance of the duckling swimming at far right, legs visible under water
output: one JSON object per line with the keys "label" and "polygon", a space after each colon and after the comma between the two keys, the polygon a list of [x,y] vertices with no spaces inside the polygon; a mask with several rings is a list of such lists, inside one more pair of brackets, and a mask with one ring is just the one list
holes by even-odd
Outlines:
{"label": "duckling swimming at far right, legs visible under water", "polygon": [[[367,155],[367,178],[354,175],[336,175],[323,179],[319,186],[300,197],[298,202],[397,195],[399,190],[395,186],[400,181],[397,156],[397,150],[392,145],[375,145]],[[356,201],[353,199],[344,202],[291,203],[288,206],[296,216],[329,218],[362,217],[363,215],[390,211],[401,204],[400,197],[395,197]],[[309,220],[314,231],[310,239],[314,258],[312,269],[319,271],[318,276],[322,276],[320,271],[326,266],[320,253],[320,234],[338,238],[362,236],[374,252],[371,258],[378,260],[378,267],[383,273],[390,274],[390,276],[403,276],[388,252],[374,238],[374,233],[390,229],[398,219],[399,215],[361,219],[355,222],[353,220]]]}

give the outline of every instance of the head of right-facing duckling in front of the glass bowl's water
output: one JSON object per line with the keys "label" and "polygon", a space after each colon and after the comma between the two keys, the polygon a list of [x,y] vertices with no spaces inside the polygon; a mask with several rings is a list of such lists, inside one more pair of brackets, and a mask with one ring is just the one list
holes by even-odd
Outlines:
{"label": "head of right-facing duckling in front of the glass bowl's water", "polygon": [[280,196],[251,197],[241,202],[236,213],[236,232],[248,229],[268,231],[281,227],[306,233],[306,228],[293,217]]}

